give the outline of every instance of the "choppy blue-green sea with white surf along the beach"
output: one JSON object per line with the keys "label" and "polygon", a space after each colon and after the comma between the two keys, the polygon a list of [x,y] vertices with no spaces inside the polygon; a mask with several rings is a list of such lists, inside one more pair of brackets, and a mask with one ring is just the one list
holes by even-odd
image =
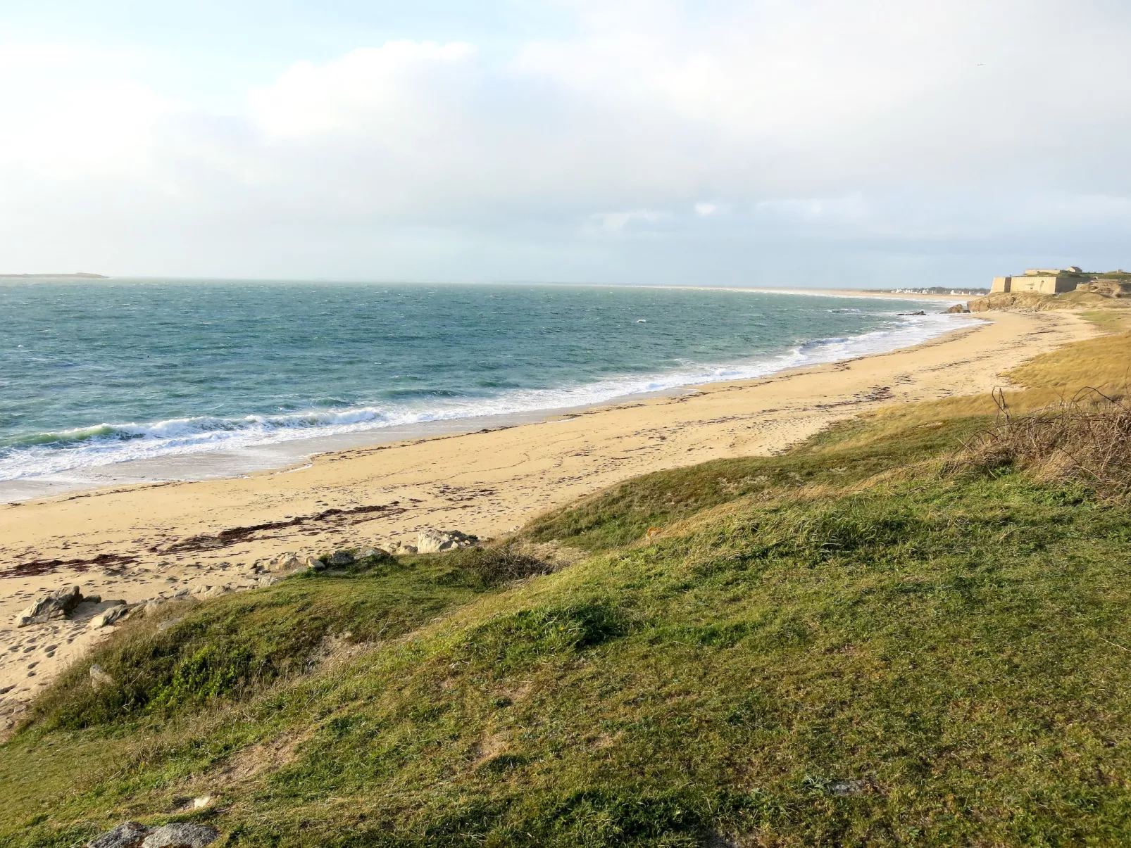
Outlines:
{"label": "choppy blue-green sea with white surf along the beach", "polygon": [[327,436],[760,378],[924,341],[956,327],[939,310],[649,286],[6,280],[0,483],[124,479],[154,460],[209,476],[231,470],[209,457],[266,445],[288,444],[283,461]]}

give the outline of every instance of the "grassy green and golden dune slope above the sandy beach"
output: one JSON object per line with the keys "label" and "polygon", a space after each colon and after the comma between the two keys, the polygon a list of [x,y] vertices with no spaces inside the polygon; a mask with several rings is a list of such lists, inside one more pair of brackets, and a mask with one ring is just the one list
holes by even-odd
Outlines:
{"label": "grassy green and golden dune slope above the sandy beach", "polygon": [[[1116,395],[1129,352],[1010,403]],[[555,573],[379,559],[129,622],[0,746],[0,842],[1125,845],[1126,495],[979,452],[960,403],[544,516],[519,546],[586,552]]]}

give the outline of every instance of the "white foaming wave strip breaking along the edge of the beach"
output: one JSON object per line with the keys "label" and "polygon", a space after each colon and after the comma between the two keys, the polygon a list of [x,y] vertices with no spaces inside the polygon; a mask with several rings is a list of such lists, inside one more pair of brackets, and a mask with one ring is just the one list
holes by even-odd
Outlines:
{"label": "white foaming wave strip breaking along the edge of the beach", "polygon": [[[0,448],[0,481],[74,471],[118,462],[216,450],[240,450],[294,439],[381,430],[397,425],[590,406],[619,397],[684,386],[751,380],[805,365],[836,362],[908,347],[955,329],[955,315],[900,318],[884,329],[857,336],[798,341],[774,356],[694,364],[673,372],[633,374],[555,389],[507,389],[494,397],[454,391],[404,392],[385,405],[301,409],[240,417],[196,416],[152,423],[103,423],[38,433]],[[398,403],[399,400],[399,403]]]}

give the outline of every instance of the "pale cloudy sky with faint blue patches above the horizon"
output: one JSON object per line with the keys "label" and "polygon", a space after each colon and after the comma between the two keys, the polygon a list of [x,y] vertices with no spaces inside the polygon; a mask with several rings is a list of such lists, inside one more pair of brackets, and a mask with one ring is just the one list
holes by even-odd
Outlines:
{"label": "pale cloudy sky with faint blue patches above the horizon", "polygon": [[1126,0],[0,0],[0,272],[1131,267]]}

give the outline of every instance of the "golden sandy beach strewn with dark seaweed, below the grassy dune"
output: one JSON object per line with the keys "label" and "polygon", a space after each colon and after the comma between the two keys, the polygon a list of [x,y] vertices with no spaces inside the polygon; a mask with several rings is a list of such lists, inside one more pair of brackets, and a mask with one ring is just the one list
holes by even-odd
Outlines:
{"label": "golden sandy beach strewn with dark seaweed, below the grassy dune", "polygon": [[434,527],[498,537],[628,477],[769,453],[890,404],[973,395],[1038,353],[1096,329],[1067,312],[994,313],[888,354],[539,424],[325,453],[236,479],[165,483],[0,505],[0,733],[107,629],[17,629],[45,591],[137,602],[253,586],[248,566],[286,551],[415,542]]}

